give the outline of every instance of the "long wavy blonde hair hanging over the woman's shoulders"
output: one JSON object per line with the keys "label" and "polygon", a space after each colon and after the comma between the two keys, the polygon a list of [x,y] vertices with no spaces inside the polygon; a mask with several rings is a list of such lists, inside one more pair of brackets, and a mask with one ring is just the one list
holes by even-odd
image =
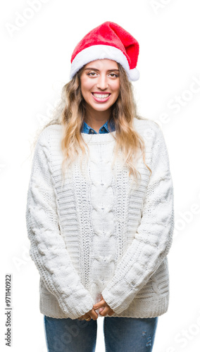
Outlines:
{"label": "long wavy blonde hair hanging over the woman's shoulders", "polygon": [[[46,123],[39,134],[49,125],[62,125],[63,135],[61,139],[61,149],[63,151],[62,175],[65,178],[66,167],[72,163],[77,155],[82,153],[86,155],[87,143],[82,138],[81,130],[86,116],[86,103],[82,96],[80,76],[85,66],[83,66],[73,77],[70,82],[63,86],[61,100],[54,109],[53,118]],[[145,162],[145,144],[142,136],[135,130],[134,119],[148,120],[142,118],[137,113],[137,104],[135,103],[134,87],[128,80],[127,74],[120,63],[118,63],[120,92],[118,99],[111,107],[111,116],[108,120],[108,129],[110,130],[111,119],[115,123],[115,158],[122,153],[123,164],[129,169],[129,176],[138,183],[141,180],[141,174],[137,170],[137,160],[142,156]],[[37,136],[39,137],[39,136]],[[36,139],[37,139],[36,137]],[[36,143],[36,142],[35,142]],[[87,149],[88,150],[88,149]],[[120,153],[119,153],[120,151]],[[89,152],[89,150],[88,150]],[[82,167],[82,165],[81,165]],[[151,169],[148,165],[146,168]]]}

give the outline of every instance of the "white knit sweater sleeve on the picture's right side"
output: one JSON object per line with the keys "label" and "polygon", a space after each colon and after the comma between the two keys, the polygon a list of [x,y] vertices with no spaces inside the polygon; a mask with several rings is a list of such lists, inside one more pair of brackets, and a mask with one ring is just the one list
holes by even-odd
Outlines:
{"label": "white knit sweater sleeve on the picture's right side", "polygon": [[161,265],[172,244],[174,230],[173,180],[168,150],[161,128],[152,137],[151,171],[142,208],[142,218],[132,244],[115,269],[111,282],[101,292],[108,306],[121,313]]}

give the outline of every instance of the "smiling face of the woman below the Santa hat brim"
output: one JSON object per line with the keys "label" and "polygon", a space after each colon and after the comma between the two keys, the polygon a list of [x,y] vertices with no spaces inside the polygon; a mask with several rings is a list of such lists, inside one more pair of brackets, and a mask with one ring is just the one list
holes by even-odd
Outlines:
{"label": "smiling face of the woman below the Santa hat brim", "polygon": [[118,64],[106,58],[87,63],[80,75],[80,83],[87,108],[108,111],[120,92]]}

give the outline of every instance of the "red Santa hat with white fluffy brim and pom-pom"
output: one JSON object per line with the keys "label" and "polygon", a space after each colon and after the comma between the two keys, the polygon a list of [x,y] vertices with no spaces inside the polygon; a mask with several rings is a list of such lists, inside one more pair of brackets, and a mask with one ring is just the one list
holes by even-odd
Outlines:
{"label": "red Santa hat with white fluffy brim and pom-pom", "polygon": [[87,63],[109,58],[123,66],[130,81],[137,81],[138,55],[137,40],[120,25],[107,21],[87,33],[75,47],[70,60],[70,80]]}

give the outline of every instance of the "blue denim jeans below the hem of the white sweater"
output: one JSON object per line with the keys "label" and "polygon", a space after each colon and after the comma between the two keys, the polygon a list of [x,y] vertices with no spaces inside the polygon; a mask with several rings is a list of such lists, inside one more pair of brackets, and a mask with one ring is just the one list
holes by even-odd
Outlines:
{"label": "blue denim jeans below the hem of the white sweater", "polygon": [[[101,319],[101,318],[100,318]],[[104,317],[106,352],[150,352],[153,349],[158,317]],[[48,352],[94,352],[96,320],[50,318],[44,315]]]}

